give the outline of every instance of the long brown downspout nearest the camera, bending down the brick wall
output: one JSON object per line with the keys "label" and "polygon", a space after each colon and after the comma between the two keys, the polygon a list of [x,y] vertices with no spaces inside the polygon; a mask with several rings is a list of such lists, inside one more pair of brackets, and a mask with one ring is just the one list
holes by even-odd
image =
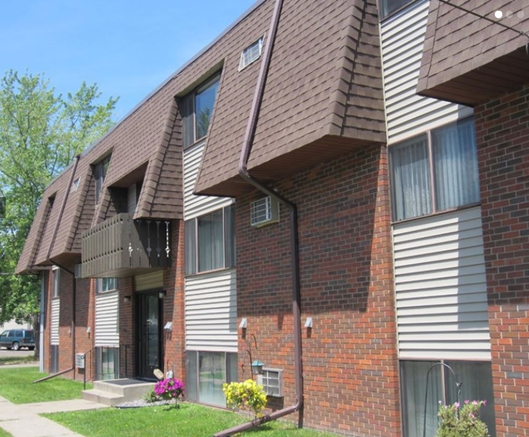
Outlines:
{"label": "long brown downspout nearest the camera, bending down the brick wall", "polygon": [[264,89],[266,85],[266,77],[268,75],[268,67],[270,66],[270,58],[272,55],[275,36],[277,34],[277,27],[280,21],[281,8],[283,0],[276,0],[273,11],[273,17],[270,22],[270,30],[268,31],[268,41],[266,41],[265,55],[261,63],[259,71],[259,78],[254,93],[254,100],[252,101],[252,109],[250,110],[248,125],[245,133],[244,143],[242,143],[242,150],[239,159],[238,171],[239,175],[252,184],[254,187],[264,194],[271,196],[282,205],[290,210],[290,249],[291,249],[291,267],[292,267],[292,318],[294,323],[294,366],[295,366],[295,388],[296,401],[292,406],[283,408],[282,410],[274,411],[269,415],[265,415],[258,419],[240,424],[236,427],[220,431],[214,434],[214,437],[227,437],[235,433],[246,431],[259,426],[260,424],[279,419],[285,415],[300,411],[298,426],[303,423],[303,376],[302,376],[302,361],[301,361],[301,315],[300,315],[300,285],[299,285],[299,250],[298,250],[298,210],[296,204],[281,194],[278,194],[270,187],[256,180],[249,174],[247,169],[249,154],[252,150],[254,135],[256,130],[257,119],[259,117],[259,110],[263,99]]}

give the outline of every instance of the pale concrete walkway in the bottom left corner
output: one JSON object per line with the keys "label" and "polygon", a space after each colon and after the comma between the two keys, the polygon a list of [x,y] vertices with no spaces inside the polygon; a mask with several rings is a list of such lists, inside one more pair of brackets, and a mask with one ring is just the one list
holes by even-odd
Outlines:
{"label": "pale concrete walkway in the bottom left corner", "polygon": [[0,396],[0,428],[8,431],[13,437],[82,437],[39,414],[96,408],[108,408],[108,406],[85,399],[15,405]]}

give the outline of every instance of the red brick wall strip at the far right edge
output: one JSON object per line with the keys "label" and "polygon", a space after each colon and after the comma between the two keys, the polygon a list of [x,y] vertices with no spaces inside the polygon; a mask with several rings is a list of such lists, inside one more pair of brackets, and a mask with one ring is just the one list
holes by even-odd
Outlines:
{"label": "red brick wall strip at the far right edge", "polygon": [[529,436],[529,87],[475,108],[498,437]]}

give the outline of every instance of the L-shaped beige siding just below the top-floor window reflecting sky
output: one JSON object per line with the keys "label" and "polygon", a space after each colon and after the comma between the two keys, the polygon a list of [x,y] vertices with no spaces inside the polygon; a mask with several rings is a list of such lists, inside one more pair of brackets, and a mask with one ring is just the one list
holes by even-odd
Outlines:
{"label": "L-shaped beige siding just below the top-floor window reflecting sky", "polygon": [[195,196],[193,189],[204,152],[203,141],[184,150],[184,220],[208,214],[233,202],[229,197]]}

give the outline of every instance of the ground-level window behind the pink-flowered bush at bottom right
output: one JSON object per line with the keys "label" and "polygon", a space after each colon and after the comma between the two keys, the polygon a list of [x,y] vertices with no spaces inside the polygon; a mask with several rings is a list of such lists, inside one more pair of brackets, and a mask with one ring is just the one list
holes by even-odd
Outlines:
{"label": "ground-level window behind the pink-flowered bush at bottom right", "polygon": [[456,381],[444,362],[454,371],[461,386],[460,400],[482,401],[480,417],[487,424],[491,437],[495,437],[494,394],[491,363],[480,361],[400,361],[400,392],[403,403],[403,435],[422,437],[425,423],[426,376],[428,399],[426,404],[426,436],[435,435],[439,402],[446,404],[458,400]]}

